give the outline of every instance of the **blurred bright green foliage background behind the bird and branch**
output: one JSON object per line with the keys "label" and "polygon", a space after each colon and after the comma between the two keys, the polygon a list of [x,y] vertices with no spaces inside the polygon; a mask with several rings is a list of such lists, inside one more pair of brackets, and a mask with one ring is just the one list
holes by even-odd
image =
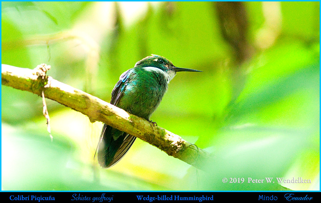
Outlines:
{"label": "blurred bright green foliage background behind the bird and branch", "polygon": [[46,63],[54,79],[108,102],[150,54],[202,70],[178,73],[151,119],[215,156],[204,172],[136,139],[102,169],[93,159],[102,123],[47,99],[51,141],[41,98],[2,86],[2,190],[319,190],[319,2],[2,2],[1,11],[2,64]]}

